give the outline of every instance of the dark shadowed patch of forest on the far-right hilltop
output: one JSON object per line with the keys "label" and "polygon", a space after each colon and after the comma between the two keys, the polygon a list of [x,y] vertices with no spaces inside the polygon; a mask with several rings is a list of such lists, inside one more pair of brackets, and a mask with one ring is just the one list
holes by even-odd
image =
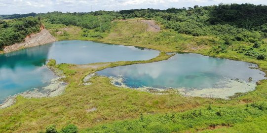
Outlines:
{"label": "dark shadowed patch of forest on the far-right hilltop", "polygon": [[248,3],[220,4],[211,10],[209,22],[211,24],[229,24],[249,30],[260,30],[258,27],[267,23],[267,6]]}

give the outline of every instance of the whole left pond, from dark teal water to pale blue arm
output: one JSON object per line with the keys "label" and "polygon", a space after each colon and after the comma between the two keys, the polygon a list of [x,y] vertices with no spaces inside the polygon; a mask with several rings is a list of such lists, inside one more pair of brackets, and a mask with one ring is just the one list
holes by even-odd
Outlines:
{"label": "whole left pond, from dark teal water to pale blue arm", "polygon": [[8,96],[42,88],[55,78],[45,63],[89,64],[149,60],[159,51],[92,41],[57,41],[0,55],[0,103]]}

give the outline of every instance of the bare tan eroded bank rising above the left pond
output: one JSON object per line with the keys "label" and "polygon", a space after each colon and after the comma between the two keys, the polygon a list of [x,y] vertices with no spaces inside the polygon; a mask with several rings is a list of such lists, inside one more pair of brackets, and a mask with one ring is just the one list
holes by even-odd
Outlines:
{"label": "bare tan eroded bank rising above the left pond", "polygon": [[46,29],[42,29],[41,32],[39,33],[27,36],[24,42],[15,43],[13,45],[4,47],[3,52],[8,53],[28,47],[43,45],[53,41],[56,41],[56,38],[53,35],[51,35]]}

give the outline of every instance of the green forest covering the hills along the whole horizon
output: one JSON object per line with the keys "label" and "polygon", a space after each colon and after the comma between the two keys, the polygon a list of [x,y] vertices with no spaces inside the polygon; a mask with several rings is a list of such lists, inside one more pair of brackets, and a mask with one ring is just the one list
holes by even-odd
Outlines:
{"label": "green forest covering the hills along the whole horizon", "polygon": [[[266,49],[261,45],[266,45],[263,41],[267,38],[267,6],[254,4],[219,4],[212,6],[195,5],[189,8],[169,8],[166,10],[158,9],[131,9],[120,11],[95,11],[89,13],[62,13],[48,12],[39,14],[10,15],[4,18],[16,18],[25,16],[35,16],[44,23],[63,24],[66,26],[77,26],[87,30],[94,30],[100,33],[108,33],[115,19],[145,18],[153,19],[164,26],[165,29],[174,30],[177,33],[188,34],[191,36],[214,36],[220,39],[219,46],[214,46],[213,52],[223,53],[229,45],[234,43],[249,43],[253,46],[236,48],[235,51],[246,56],[251,56],[259,60],[265,60]],[[1,32],[0,46],[10,45],[20,42],[29,33],[38,32],[38,20],[34,21],[25,29],[17,29],[22,21],[26,19],[14,19],[11,22],[0,22],[1,31],[12,30],[4,35]],[[14,26],[14,25],[19,26]],[[10,25],[8,28],[6,25]],[[22,33],[18,33],[18,30]],[[24,31],[22,31],[24,30]],[[14,32],[13,32],[14,31]],[[87,36],[88,34],[83,34]],[[92,37],[102,37],[92,35]],[[8,39],[11,38],[11,39]],[[18,39],[16,39],[18,38]],[[6,41],[11,40],[11,41]]]}

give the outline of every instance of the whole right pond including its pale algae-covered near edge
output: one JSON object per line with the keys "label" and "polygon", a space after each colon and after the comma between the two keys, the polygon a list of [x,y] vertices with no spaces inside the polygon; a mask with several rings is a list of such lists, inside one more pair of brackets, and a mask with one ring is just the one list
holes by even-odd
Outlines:
{"label": "whole right pond including its pale algae-covered near edge", "polygon": [[148,91],[178,89],[185,96],[228,99],[253,91],[265,79],[257,65],[199,54],[176,54],[166,61],[117,66],[98,71],[116,86]]}

